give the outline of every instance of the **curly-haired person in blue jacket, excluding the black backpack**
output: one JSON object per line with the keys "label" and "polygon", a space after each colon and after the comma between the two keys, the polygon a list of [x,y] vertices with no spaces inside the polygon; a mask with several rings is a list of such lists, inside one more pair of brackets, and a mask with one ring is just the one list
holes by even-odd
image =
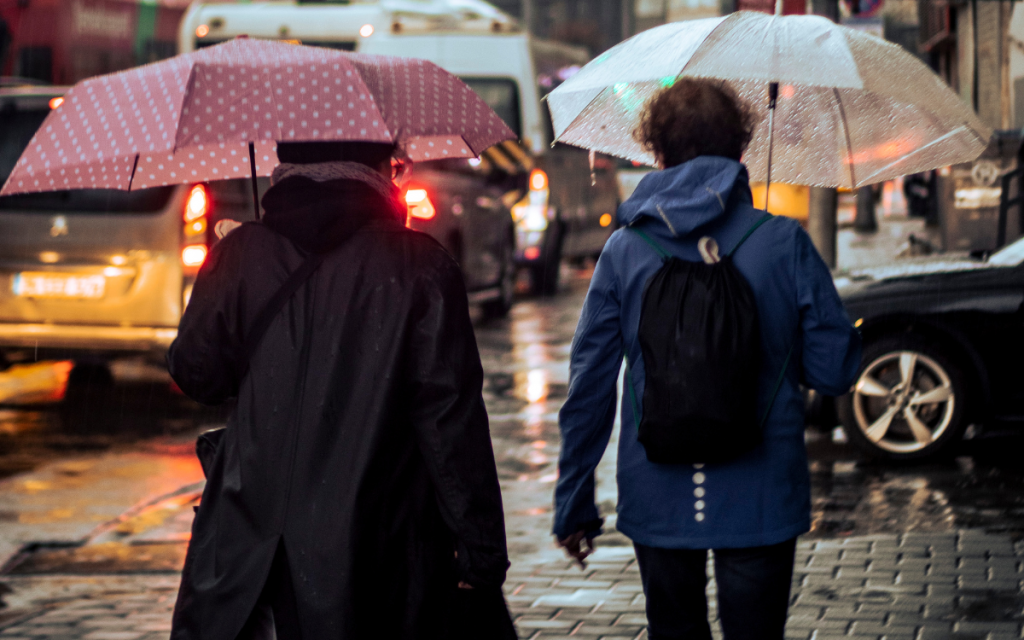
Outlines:
{"label": "curly-haired person in blue jacket, excluding the black backpack", "polygon": [[[680,79],[663,89],[635,133],[660,170],[645,176],[618,208],[620,226],[643,230],[683,260],[701,259],[697,241],[703,236],[723,252],[736,245],[764,216],[752,204],[739,162],[752,132],[749,109],[722,83]],[[637,441],[630,402],[623,402],[616,527],[634,542],[651,640],[711,639],[709,549],[715,551],[726,640],[781,640],[796,539],[810,528],[800,385],[843,394],[860,362],[859,334],[828,267],[797,221],[769,219],[740,247],[734,263],[750,282],[758,309],[759,415],[770,407],[763,443],[727,463],[651,463]],[[568,398],[559,414],[554,534],[581,564],[600,532],[594,474],[611,435],[624,352],[631,364],[625,384],[631,381],[635,397],[643,397],[637,329],[644,285],[660,266],[637,233],[615,231],[597,262],[572,340]]]}

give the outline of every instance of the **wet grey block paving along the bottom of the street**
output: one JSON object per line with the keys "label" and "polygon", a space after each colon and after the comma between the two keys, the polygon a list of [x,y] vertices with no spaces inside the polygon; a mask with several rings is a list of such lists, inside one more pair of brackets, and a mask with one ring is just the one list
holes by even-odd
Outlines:
{"label": "wet grey block paving along the bottom of the street", "polygon": [[[1024,545],[972,530],[801,542],[785,635],[787,640],[1022,638],[1022,568]],[[66,599],[37,603],[8,620],[0,638],[166,640],[173,579],[139,580],[126,589],[93,579],[93,592],[79,585]],[[586,570],[567,560],[513,564],[506,587],[521,638],[646,637],[640,573],[629,548],[600,549]],[[714,592],[712,581],[713,621]],[[715,634],[721,638],[717,624]]]}

